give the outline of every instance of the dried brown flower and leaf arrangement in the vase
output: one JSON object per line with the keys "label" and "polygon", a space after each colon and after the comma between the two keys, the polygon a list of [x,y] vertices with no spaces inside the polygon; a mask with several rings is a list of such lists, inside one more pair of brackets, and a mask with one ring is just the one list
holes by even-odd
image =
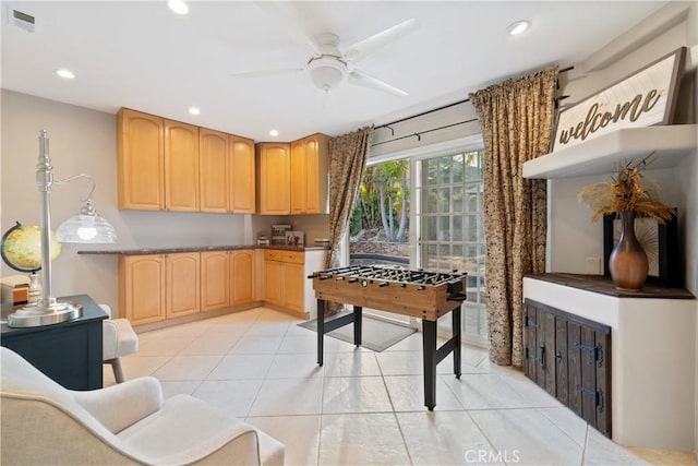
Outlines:
{"label": "dried brown flower and leaf arrangement in the vase", "polygon": [[578,200],[594,211],[592,222],[618,212],[635,212],[637,217],[653,218],[660,224],[672,218],[674,210],[657,199],[658,186],[647,180],[642,182],[642,170],[652,162],[652,155],[638,163],[633,159],[621,163],[611,181],[593,183],[581,190]]}

